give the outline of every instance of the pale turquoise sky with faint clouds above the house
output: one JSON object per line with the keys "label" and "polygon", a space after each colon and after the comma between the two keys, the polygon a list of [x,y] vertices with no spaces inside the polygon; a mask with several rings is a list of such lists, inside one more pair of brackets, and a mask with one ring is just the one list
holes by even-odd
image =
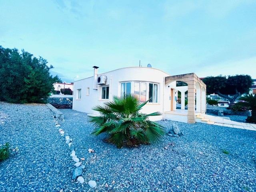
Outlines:
{"label": "pale turquoise sky with faint clouds above the house", "polygon": [[0,0],[0,10],[0,45],[42,56],[62,81],[139,63],[256,79],[255,0]]}

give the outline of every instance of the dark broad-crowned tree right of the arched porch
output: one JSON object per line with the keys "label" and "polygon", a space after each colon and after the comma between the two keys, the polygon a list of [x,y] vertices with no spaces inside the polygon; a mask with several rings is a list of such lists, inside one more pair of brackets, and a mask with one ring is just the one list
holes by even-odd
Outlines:
{"label": "dark broad-crowned tree right of the arched porch", "polygon": [[253,84],[253,80],[249,75],[209,76],[202,81],[206,84],[207,94],[218,94],[218,96],[229,100],[230,104],[242,94],[248,94]]}

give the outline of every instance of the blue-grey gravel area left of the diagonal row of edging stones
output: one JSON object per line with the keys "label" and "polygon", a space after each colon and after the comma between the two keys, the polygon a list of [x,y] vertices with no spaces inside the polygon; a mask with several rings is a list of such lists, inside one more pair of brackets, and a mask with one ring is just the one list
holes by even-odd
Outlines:
{"label": "blue-grey gravel area left of the diagonal row of edging stones", "polygon": [[70,186],[73,162],[45,104],[0,102],[0,144],[19,152],[0,162],[1,192],[60,191]]}

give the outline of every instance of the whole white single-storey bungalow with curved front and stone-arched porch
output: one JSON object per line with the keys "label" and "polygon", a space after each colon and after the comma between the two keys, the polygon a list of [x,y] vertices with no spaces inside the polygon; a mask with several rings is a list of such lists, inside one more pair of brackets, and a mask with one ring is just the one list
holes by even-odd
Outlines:
{"label": "whole white single-storey bungalow with curved front and stone-arched porch", "polygon": [[[156,68],[127,67],[98,74],[98,67],[93,68],[94,76],[74,82],[73,110],[98,115],[92,110],[94,106],[111,101],[114,95],[136,94],[141,102],[149,100],[142,108],[143,113],[162,113],[150,120],[195,123],[195,116],[206,112],[206,85],[194,73],[170,76]],[[187,86],[176,86],[176,81],[185,82]],[[180,110],[176,110],[178,90]],[[185,110],[186,91],[188,110]]]}

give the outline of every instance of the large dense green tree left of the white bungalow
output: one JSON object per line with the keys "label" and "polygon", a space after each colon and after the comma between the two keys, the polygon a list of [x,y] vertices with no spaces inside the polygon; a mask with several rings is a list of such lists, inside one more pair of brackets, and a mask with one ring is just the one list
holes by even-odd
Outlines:
{"label": "large dense green tree left of the white bungalow", "polygon": [[47,61],[18,49],[0,46],[0,100],[12,103],[43,103],[54,82],[61,82],[58,76],[52,77]]}

